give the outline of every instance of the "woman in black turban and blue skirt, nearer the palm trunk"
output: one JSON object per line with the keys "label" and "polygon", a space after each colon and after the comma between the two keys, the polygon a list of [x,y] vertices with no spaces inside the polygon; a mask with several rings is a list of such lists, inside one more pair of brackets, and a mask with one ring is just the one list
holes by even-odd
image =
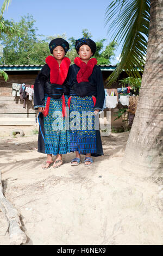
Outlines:
{"label": "woman in black turban and blue skirt, nearer the palm trunk", "polygon": [[[76,123],[86,125],[85,129],[80,127],[76,130],[71,128],[71,151],[76,151],[76,158],[71,161],[72,166],[81,162],[80,154],[85,154],[84,165],[90,166],[93,163],[91,156],[103,155],[101,136],[99,129],[95,129],[95,115],[102,111],[104,103],[104,84],[102,72],[97,66],[97,60],[91,58],[96,52],[96,44],[89,38],[76,40],[76,51],[79,57],[74,59],[73,65],[68,71],[68,82],[70,84],[70,128],[73,122],[73,113],[77,111]],[[91,59],[90,59],[91,58]],[[90,111],[92,117],[86,117],[85,124],[82,123],[83,113]],[[78,114],[77,114],[78,115]],[[92,118],[92,129],[89,129],[89,118]]]}

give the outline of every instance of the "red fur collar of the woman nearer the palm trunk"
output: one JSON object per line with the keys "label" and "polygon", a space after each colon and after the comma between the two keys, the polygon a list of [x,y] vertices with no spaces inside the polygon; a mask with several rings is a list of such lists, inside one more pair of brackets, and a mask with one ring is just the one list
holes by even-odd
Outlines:
{"label": "red fur collar of the woman nearer the palm trunk", "polygon": [[92,58],[86,64],[85,62],[82,62],[79,57],[76,57],[74,59],[74,63],[80,68],[77,74],[78,83],[89,82],[88,78],[92,75],[93,68],[97,64],[97,59]]}

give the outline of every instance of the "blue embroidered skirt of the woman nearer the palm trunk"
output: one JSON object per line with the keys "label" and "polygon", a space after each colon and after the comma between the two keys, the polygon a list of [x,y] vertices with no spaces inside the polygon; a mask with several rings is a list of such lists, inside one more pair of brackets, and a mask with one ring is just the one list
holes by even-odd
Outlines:
{"label": "blue embroidered skirt of the woman nearer the palm trunk", "polygon": [[[72,152],[79,151],[79,154],[96,153],[96,130],[95,130],[95,116],[92,115],[94,112],[94,103],[91,96],[79,97],[72,96],[70,105],[70,149]],[[76,119],[73,116],[74,111],[77,111]],[[91,112],[91,125],[89,123],[89,117],[83,119],[84,112]],[[74,115],[75,117],[75,115]],[[74,120],[79,126],[76,126],[76,130],[72,130]],[[84,120],[84,121],[83,121]],[[82,123],[83,122],[83,123]],[[74,123],[74,124],[76,124]],[[75,127],[75,126],[74,126]],[[90,129],[91,128],[91,129]]]}

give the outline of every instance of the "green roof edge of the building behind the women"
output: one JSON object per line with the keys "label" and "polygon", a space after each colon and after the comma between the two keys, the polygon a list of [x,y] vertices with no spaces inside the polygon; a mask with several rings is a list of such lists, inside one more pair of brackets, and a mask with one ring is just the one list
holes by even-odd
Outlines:
{"label": "green roof edge of the building behind the women", "polygon": [[[0,65],[3,71],[39,71],[43,65]],[[114,71],[116,65],[98,65],[102,71]]]}

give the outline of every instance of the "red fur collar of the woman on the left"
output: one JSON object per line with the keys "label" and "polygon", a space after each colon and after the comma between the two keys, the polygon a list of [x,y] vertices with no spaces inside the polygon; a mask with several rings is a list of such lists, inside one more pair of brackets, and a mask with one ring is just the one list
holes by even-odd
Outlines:
{"label": "red fur collar of the woman on the left", "polygon": [[60,68],[57,60],[53,56],[48,56],[45,61],[51,69],[51,83],[63,84],[68,74],[68,69],[71,63],[70,59],[67,57],[63,58]]}

